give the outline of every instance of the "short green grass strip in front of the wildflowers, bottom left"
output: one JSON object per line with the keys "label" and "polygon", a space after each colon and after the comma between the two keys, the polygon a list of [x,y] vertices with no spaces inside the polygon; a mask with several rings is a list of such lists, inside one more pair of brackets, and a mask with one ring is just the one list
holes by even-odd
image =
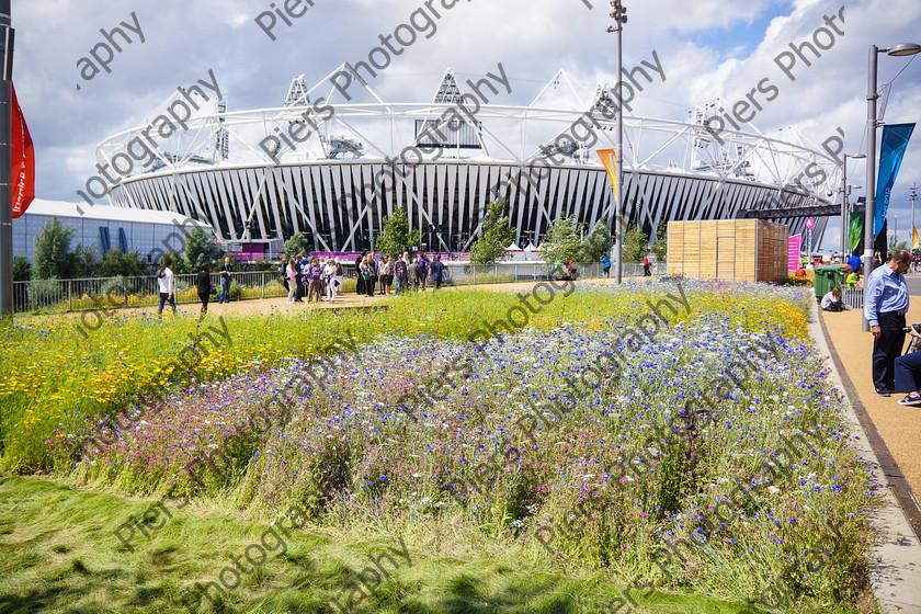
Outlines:
{"label": "short green grass strip in front of the wildflowers, bottom left", "polygon": [[[0,499],[4,501],[0,508],[3,614],[187,612],[183,591],[195,582],[214,580],[232,565],[231,556],[259,543],[268,528],[214,515],[193,503],[189,511],[170,508],[172,520],[149,539],[138,534],[129,552],[113,531],[128,518],[140,518],[149,502],[15,476],[0,478]],[[376,556],[397,543],[316,527],[289,531],[286,552],[271,556],[228,591],[224,612],[338,612],[332,599],[343,591],[349,594],[368,554]],[[515,557],[513,550],[486,543],[462,548],[450,536],[435,543],[422,535],[407,536],[406,543],[411,566],[395,557],[401,566],[376,588],[376,595],[356,600],[350,612],[575,614],[601,611],[623,595],[624,588],[612,585],[604,575],[547,573]],[[250,568],[246,561],[243,566]],[[700,595],[651,593],[644,599],[646,593],[628,589],[640,604],[633,612],[743,611],[739,604]],[[340,596],[343,604],[345,599]],[[221,611],[206,604],[198,611]]]}

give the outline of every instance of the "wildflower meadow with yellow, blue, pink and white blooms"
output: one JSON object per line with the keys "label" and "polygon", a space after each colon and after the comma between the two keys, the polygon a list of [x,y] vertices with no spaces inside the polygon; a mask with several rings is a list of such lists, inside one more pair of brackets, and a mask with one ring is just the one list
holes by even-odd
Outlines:
{"label": "wildflower meadow with yellow, blue, pink and white blooms", "polygon": [[[448,566],[432,582],[499,549],[516,573],[578,580],[515,611],[601,612],[604,587],[641,584],[723,604],[706,611],[868,612],[876,493],[808,338],[808,289],[579,284],[477,342],[516,295],[427,293],[379,311],[227,318],[227,338],[179,368],[215,319],[116,317],[89,339],[68,318],[37,320],[2,331],[2,467],[242,523],[296,508],[305,531],[344,541],[399,535],[413,561]],[[675,308],[638,334],[669,296]],[[159,556],[144,533],[133,525],[120,556]],[[218,570],[190,567],[161,599],[178,606]],[[355,611],[440,611],[414,580],[363,592]],[[334,582],[297,590],[315,600],[304,611],[342,607]],[[270,599],[246,591],[200,611]],[[666,601],[634,611],[693,610]],[[478,607],[464,611],[492,611]]]}

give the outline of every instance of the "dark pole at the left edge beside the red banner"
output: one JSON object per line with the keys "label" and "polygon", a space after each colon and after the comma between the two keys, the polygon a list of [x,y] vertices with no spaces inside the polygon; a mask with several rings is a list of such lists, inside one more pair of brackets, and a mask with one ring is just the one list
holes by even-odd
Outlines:
{"label": "dark pole at the left edge beside the red banner", "polygon": [[0,319],[13,317],[12,107],[13,29],[11,0],[0,0]]}

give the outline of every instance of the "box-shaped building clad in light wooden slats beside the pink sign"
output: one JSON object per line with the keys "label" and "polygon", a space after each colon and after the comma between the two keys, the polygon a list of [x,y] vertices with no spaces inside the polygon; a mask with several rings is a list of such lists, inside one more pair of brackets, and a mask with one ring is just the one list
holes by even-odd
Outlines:
{"label": "box-shaped building clad in light wooden slats beside the pink sign", "polygon": [[669,223],[669,275],[774,282],[787,275],[789,228],[763,219]]}

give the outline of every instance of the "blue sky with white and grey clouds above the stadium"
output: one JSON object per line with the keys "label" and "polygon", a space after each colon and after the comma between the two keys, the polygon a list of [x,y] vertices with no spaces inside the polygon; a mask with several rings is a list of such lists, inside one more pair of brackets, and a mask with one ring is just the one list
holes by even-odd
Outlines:
{"label": "blue sky with white and grey clouds above the stadium", "polygon": [[[453,3],[456,5],[446,9]],[[296,0],[287,4],[296,7]],[[320,81],[343,61],[366,60],[423,0],[308,0],[291,19],[275,16],[275,41],[257,18],[284,0],[13,0],[16,29],[14,81],[35,143],[39,197],[76,202],[76,191],[94,174],[96,144],[139,124],[178,86],[213,69],[230,110],[276,106],[292,77]],[[418,37],[371,84],[385,100],[431,100],[446,67],[461,80],[494,70],[501,61],[512,93],[496,103],[526,104],[558,69],[587,88],[614,82],[614,36],[607,1],[429,0],[441,13],[437,31]],[[793,128],[818,147],[841,128],[846,150],[865,151],[867,48],[919,42],[918,0],[636,0],[626,1],[624,64],[632,67],[656,50],[664,83],[637,98],[638,115],[686,120],[687,111],[717,98],[735,102],[765,78],[778,95],[763,103],[752,126],[771,135]],[[281,9],[280,9],[281,10]],[[294,9],[295,11],[298,9]],[[133,16],[134,13],[134,16]],[[843,23],[838,16],[843,14]],[[826,18],[834,18],[828,25]],[[144,42],[124,29],[121,52],[88,80],[90,52],[121,22],[139,24]],[[268,15],[262,16],[266,25]],[[791,44],[812,43],[818,29],[822,57],[804,50],[787,77],[776,59],[792,59]],[[843,35],[833,32],[838,27]],[[98,55],[105,57],[101,47]],[[917,57],[917,56],[916,56]],[[105,58],[107,59],[107,58]],[[81,69],[84,70],[81,76]],[[916,122],[921,115],[921,60],[882,55],[880,87],[892,80],[886,121]],[[79,86],[79,90],[78,90]],[[761,95],[761,94],[759,94]],[[852,183],[865,183],[864,166],[852,161]],[[909,147],[892,192],[890,227],[898,215],[908,238],[909,186],[921,179],[921,134]],[[859,191],[863,195],[862,191]],[[921,226],[921,209],[918,214]],[[826,247],[838,243],[832,221]]]}

